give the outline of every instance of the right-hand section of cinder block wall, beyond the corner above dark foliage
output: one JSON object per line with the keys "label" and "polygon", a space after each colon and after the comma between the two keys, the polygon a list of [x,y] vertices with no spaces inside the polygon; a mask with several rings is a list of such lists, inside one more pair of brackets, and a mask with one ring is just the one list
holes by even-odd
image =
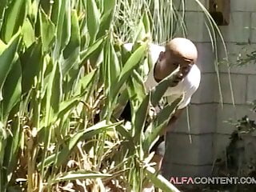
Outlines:
{"label": "right-hand section of cinder block wall, beyond the corner above dark foliage", "polygon": [[[238,54],[245,55],[256,50],[256,1],[254,0],[231,0],[230,1],[230,25],[220,26],[222,35],[225,39],[227,51],[231,64],[236,64]],[[225,51],[220,44],[218,54],[219,58],[225,58]],[[256,63],[250,63],[242,67],[231,67],[230,78],[234,90],[234,103],[232,104],[228,67],[220,66],[220,78],[222,82],[223,108],[218,106],[217,126],[214,133],[214,158],[218,158],[225,153],[226,145],[229,143],[230,134],[234,131],[231,126],[224,121],[229,118],[238,119],[245,115],[254,119],[255,114],[250,111],[248,102],[256,99]],[[218,95],[215,102],[219,102]],[[250,136],[249,136],[250,137]],[[247,140],[256,144],[255,138]],[[246,147],[246,154],[254,153]]]}

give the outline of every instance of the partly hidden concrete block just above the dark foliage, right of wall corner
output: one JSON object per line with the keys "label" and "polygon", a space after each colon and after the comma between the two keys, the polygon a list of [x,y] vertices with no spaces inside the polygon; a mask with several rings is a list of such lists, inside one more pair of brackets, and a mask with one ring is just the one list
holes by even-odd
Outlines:
{"label": "partly hidden concrete block just above the dark foliage, right of wall corner", "polygon": [[218,120],[216,133],[218,134],[232,134],[232,132],[235,130],[235,126],[228,123],[227,121],[229,120],[235,122],[245,115],[247,115],[249,118],[255,117],[255,114],[250,110],[248,105],[233,106],[224,104],[223,109],[221,106],[218,107],[217,113]]}

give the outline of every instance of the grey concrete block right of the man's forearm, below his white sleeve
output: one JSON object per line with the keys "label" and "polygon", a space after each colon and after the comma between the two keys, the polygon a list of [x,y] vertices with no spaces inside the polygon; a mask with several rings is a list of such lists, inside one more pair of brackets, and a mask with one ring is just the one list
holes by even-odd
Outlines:
{"label": "grey concrete block right of the man's forearm, below his white sleeve", "polygon": [[172,125],[172,133],[210,134],[214,133],[217,122],[217,104],[202,104],[188,106],[190,130],[187,111]]}

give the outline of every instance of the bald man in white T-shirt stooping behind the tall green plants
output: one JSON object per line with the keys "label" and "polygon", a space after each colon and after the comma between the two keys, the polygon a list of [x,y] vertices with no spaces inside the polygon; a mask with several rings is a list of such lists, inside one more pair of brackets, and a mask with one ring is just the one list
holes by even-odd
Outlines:
{"label": "bald man in white T-shirt stooping behind the tall green plants", "polygon": [[[131,50],[132,44],[125,45],[127,50]],[[160,170],[162,158],[165,154],[165,136],[174,122],[182,114],[182,110],[190,103],[190,99],[194,92],[198,89],[201,72],[195,62],[198,58],[198,51],[194,43],[186,38],[174,38],[166,43],[166,46],[150,45],[150,55],[154,66],[146,79],[145,85],[147,90],[154,89],[163,78],[179,68],[175,75],[174,82],[170,83],[170,87],[166,90],[164,97],[168,102],[174,102],[175,99],[183,96],[182,102],[178,105],[178,110],[170,118],[169,125],[163,131],[158,142],[153,146],[151,152],[155,155],[153,162],[157,163],[156,170]],[[154,191],[154,186],[147,185],[143,190]]]}

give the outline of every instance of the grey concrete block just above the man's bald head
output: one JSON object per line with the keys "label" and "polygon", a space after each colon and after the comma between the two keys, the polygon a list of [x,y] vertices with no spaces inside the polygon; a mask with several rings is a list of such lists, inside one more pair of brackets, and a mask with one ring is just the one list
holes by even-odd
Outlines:
{"label": "grey concrete block just above the man's bald head", "polygon": [[[202,12],[186,11],[185,23],[186,38],[193,42],[210,42],[210,36],[205,25],[205,14]],[[183,37],[180,28],[175,31],[174,37]]]}

